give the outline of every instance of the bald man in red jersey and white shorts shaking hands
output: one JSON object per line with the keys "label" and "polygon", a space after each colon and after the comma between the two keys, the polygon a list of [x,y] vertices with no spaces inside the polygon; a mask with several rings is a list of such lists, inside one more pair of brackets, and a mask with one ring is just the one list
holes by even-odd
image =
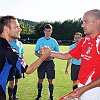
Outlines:
{"label": "bald man in red jersey and white shorts shaking hands", "polygon": [[[87,11],[83,16],[81,27],[86,37],[75,48],[68,53],[51,52],[50,56],[62,60],[69,60],[72,57],[81,58],[79,88],[75,89],[69,97],[79,97],[79,100],[100,100],[100,10]],[[46,47],[43,50],[45,53]]]}

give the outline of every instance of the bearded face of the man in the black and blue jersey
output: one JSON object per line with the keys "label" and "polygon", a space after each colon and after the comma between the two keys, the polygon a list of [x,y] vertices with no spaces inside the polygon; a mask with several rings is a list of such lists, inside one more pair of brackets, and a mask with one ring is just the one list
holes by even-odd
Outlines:
{"label": "bearded face of the man in the black and blue jersey", "polygon": [[8,35],[12,39],[19,39],[22,29],[17,20],[11,19],[11,28],[9,28]]}

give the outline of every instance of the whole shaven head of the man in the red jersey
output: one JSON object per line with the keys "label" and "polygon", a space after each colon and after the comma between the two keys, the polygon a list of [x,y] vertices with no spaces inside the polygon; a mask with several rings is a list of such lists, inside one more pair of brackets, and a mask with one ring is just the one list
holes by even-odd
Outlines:
{"label": "whole shaven head of the man in the red jersey", "polygon": [[87,11],[83,16],[83,23],[81,27],[84,33],[90,35],[92,38],[100,33],[100,10],[93,9]]}

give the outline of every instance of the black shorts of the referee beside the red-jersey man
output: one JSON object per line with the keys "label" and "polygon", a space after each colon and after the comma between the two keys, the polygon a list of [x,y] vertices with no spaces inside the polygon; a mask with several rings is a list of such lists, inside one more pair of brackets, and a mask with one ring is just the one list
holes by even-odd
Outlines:
{"label": "black shorts of the referee beside the red-jersey man", "polygon": [[76,81],[78,79],[79,70],[80,65],[71,65],[71,80]]}

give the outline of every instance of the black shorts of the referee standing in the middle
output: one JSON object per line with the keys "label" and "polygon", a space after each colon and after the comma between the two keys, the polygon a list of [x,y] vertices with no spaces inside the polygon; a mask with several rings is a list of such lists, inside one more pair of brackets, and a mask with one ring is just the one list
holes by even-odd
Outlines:
{"label": "black shorts of the referee standing in the middle", "polygon": [[45,74],[47,79],[54,79],[55,78],[55,64],[54,61],[44,61],[39,68],[37,69],[38,78],[44,79]]}

